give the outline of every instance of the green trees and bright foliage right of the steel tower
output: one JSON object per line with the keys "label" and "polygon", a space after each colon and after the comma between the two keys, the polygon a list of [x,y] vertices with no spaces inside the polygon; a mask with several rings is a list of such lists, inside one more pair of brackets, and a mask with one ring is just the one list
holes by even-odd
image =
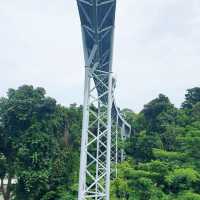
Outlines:
{"label": "green trees and bright foliage right of the steel tower", "polygon": [[199,91],[188,90],[181,109],[159,95],[139,114],[129,110],[127,119],[134,132],[126,152],[133,161],[119,165],[113,199],[199,199]]}

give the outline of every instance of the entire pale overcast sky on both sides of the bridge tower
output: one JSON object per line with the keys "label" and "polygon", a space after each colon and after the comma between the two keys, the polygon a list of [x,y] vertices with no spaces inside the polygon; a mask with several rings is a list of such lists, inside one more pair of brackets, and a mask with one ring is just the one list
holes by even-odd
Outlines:
{"label": "entire pale overcast sky on both sides of the bridge tower", "polygon": [[[0,0],[0,96],[32,84],[81,104],[83,66],[75,0]],[[118,0],[113,71],[120,107],[159,93],[179,106],[200,86],[200,1]]]}

